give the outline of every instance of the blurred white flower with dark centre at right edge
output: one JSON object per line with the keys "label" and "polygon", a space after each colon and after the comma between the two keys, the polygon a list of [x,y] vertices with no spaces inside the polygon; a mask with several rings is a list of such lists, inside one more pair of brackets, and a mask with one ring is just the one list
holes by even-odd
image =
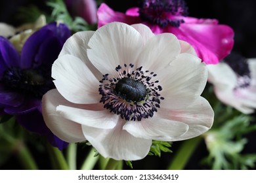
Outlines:
{"label": "blurred white flower with dark centre at right edge", "polygon": [[227,57],[217,65],[207,65],[208,81],[213,84],[217,98],[244,114],[256,108],[256,59],[238,54]]}

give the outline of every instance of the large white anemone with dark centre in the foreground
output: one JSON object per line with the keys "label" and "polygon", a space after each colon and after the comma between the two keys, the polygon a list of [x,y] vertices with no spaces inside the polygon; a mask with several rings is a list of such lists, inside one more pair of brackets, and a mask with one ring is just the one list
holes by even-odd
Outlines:
{"label": "large white anemone with dark centre in the foreground", "polygon": [[54,61],[55,90],[43,97],[49,129],[89,141],[105,158],[144,158],[156,141],[205,133],[213,110],[201,97],[207,68],[171,33],[113,22],[75,33]]}

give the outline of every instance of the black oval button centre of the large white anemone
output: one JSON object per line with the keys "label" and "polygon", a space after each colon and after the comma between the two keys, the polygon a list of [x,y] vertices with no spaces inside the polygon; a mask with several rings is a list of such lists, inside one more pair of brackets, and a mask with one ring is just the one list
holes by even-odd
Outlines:
{"label": "black oval button centre of the large white anemone", "polygon": [[115,92],[126,101],[142,101],[146,97],[146,88],[139,80],[121,78],[116,84]]}

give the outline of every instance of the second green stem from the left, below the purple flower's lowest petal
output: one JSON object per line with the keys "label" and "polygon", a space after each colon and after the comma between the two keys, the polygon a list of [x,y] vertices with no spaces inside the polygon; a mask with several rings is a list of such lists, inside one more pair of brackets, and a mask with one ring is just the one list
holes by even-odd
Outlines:
{"label": "second green stem from the left, below the purple flower's lowest petal", "polygon": [[54,146],[51,146],[51,144],[47,143],[47,150],[51,158],[53,169],[68,170],[68,163],[58,148],[55,148]]}

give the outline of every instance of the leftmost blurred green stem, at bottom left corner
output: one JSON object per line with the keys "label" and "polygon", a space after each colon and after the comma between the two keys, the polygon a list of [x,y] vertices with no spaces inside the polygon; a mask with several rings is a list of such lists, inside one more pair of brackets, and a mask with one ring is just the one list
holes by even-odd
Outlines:
{"label": "leftmost blurred green stem, at bottom left corner", "polygon": [[30,150],[26,147],[23,142],[17,142],[16,147],[14,148],[16,151],[16,156],[18,157],[20,163],[26,170],[37,170],[37,164],[35,163]]}

